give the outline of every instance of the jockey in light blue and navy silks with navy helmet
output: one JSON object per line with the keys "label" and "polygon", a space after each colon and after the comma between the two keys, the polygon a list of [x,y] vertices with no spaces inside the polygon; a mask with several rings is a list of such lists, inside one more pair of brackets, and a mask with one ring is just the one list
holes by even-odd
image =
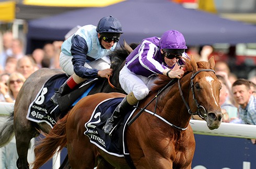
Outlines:
{"label": "jockey in light blue and navy silks with navy helmet", "polygon": [[70,77],[52,96],[57,99],[66,95],[87,79],[112,75],[108,55],[117,47],[122,34],[117,18],[103,17],[94,25],[85,25],[67,38],[61,46],[60,66]]}

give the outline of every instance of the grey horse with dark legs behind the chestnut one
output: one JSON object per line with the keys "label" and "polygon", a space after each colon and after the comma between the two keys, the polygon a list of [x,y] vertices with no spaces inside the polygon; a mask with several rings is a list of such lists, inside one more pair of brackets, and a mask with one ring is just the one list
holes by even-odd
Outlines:
{"label": "grey horse with dark legs behind the chestnut one", "polygon": [[[114,51],[110,54],[111,68],[113,69],[113,76],[111,76],[111,83],[108,84],[106,78],[98,80],[98,83],[91,89],[90,94],[99,92],[123,92],[119,84],[119,71],[122,69],[125,58],[131,53],[132,48],[124,42],[124,47]],[[17,96],[14,113],[11,113],[8,121],[0,126],[0,147],[8,144],[15,134],[16,147],[18,152],[17,167],[21,169],[29,168],[27,161],[28,149],[30,140],[39,135],[39,131],[49,133],[51,126],[47,123],[36,123],[26,118],[30,103],[36,98],[39,90],[43,84],[53,75],[64,73],[57,69],[43,68],[34,72],[28,77],[24,85],[21,87]],[[66,162],[66,161],[65,161]],[[63,164],[66,167],[68,164]]]}

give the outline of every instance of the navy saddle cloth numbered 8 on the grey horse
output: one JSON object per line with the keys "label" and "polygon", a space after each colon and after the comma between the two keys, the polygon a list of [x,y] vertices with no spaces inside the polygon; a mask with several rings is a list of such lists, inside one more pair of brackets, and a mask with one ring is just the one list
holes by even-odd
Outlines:
{"label": "navy saddle cloth numbered 8 on the grey horse", "polygon": [[[27,119],[33,122],[42,123],[45,122],[49,124],[52,128],[56,124],[57,119],[63,118],[67,111],[61,111],[59,106],[53,104],[50,100],[53,96],[55,89],[59,89],[60,86],[68,79],[68,76],[64,74],[57,74],[52,76],[48,81],[46,81],[43,87],[40,89],[36,98],[33,102],[30,103],[27,113]],[[89,91],[94,87],[95,83],[89,82],[89,85],[82,85],[86,92],[83,92],[83,95],[79,97],[77,100],[74,100],[72,106],[78,102],[78,100],[87,96]],[[80,89],[80,88],[79,88]],[[77,89],[78,90],[78,89]],[[71,95],[77,95],[77,92]],[[77,98],[76,97],[76,98]],[[67,104],[67,103],[66,103]]]}

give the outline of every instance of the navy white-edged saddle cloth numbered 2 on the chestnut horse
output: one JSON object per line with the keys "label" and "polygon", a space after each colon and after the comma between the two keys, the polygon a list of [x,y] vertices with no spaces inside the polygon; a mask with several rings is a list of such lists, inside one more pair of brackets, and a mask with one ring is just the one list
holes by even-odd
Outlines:
{"label": "navy white-edged saddle cloth numbered 2 on the chestnut horse", "polygon": [[112,132],[111,136],[105,134],[102,127],[122,100],[123,98],[110,98],[100,102],[91,114],[90,120],[85,123],[86,131],[84,132],[90,138],[92,144],[117,157],[125,157],[129,154],[124,141],[124,132],[126,123],[135,109],[126,113],[119,125],[115,127],[115,131]]}

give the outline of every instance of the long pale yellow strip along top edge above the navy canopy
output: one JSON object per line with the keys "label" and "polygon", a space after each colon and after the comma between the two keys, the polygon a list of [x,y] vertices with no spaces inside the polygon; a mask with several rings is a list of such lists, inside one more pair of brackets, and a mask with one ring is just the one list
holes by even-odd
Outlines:
{"label": "long pale yellow strip along top edge above the navy canopy", "polygon": [[55,7],[106,7],[125,0],[24,0],[25,5]]}

